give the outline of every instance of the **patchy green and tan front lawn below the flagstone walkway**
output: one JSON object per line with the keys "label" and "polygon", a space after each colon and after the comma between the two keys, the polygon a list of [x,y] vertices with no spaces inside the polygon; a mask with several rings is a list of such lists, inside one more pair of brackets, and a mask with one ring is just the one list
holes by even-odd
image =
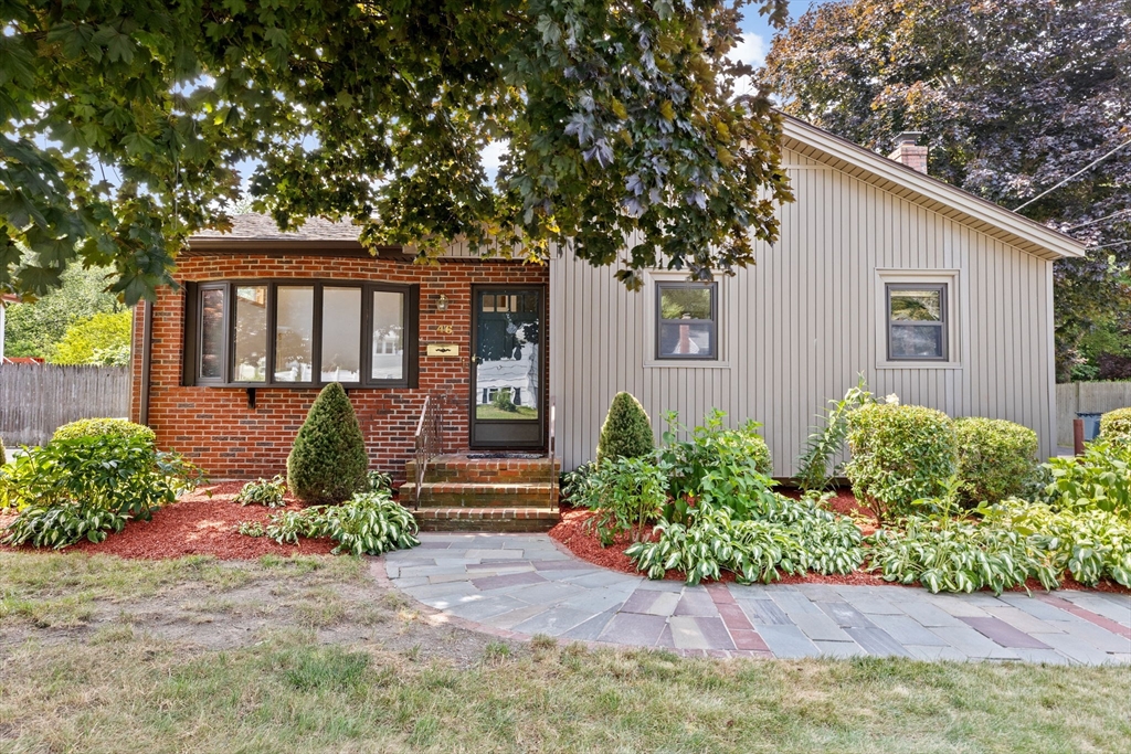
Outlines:
{"label": "patchy green and tan front lawn below the flagstone walkway", "polygon": [[0,553],[0,752],[1119,752],[1131,671],[492,641],[355,558]]}

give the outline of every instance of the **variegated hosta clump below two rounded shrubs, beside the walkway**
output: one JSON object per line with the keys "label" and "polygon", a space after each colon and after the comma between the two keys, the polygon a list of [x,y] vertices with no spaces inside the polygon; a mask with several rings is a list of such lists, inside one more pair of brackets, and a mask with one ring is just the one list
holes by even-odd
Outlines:
{"label": "variegated hosta clump below two rounded shrubs, beside the walkway", "polygon": [[1046,589],[1059,572],[1039,557],[1028,538],[1009,528],[951,517],[910,517],[898,529],[865,538],[870,570],[887,581],[920,582],[932,592],[988,588],[1001,593],[1030,575]]}

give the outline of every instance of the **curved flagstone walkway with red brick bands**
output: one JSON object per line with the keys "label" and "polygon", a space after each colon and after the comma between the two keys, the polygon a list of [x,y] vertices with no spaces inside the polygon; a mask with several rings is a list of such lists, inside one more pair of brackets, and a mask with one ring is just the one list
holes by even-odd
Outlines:
{"label": "curved flagstone walkway with red brick bands", "polygon": [[592,565],[545,535],[420,538],[420,547],[374,563],[374,575],[387,575],[397,589],[438,610],[440,619],[500,636],[549,634],[716,657],[1131,664],[1126,595],[685,587]]}

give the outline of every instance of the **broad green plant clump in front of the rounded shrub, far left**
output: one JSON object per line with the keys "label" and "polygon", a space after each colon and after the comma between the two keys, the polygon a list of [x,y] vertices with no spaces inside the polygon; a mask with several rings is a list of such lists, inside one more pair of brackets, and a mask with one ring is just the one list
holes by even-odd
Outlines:
{"label": "broad green plant clump in front of the rounded shrub, far left", "polygon": [[141,436],[52,440],[0,468],[0,508],[19,514],[5,544],[102,541],[202,482],[200,469]]}

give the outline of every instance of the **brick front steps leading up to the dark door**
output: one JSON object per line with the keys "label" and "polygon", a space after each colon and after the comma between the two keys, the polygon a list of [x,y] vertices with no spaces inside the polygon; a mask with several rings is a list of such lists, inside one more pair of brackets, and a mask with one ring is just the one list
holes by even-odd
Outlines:
{"label": "brick front steps leading up to the dark door", "polygon": [[409,461],[400,503],[413,509],[423,531],[546,531],[561,518],[560,469],[549,458],[439,456],[417,489],[416,462]]}

